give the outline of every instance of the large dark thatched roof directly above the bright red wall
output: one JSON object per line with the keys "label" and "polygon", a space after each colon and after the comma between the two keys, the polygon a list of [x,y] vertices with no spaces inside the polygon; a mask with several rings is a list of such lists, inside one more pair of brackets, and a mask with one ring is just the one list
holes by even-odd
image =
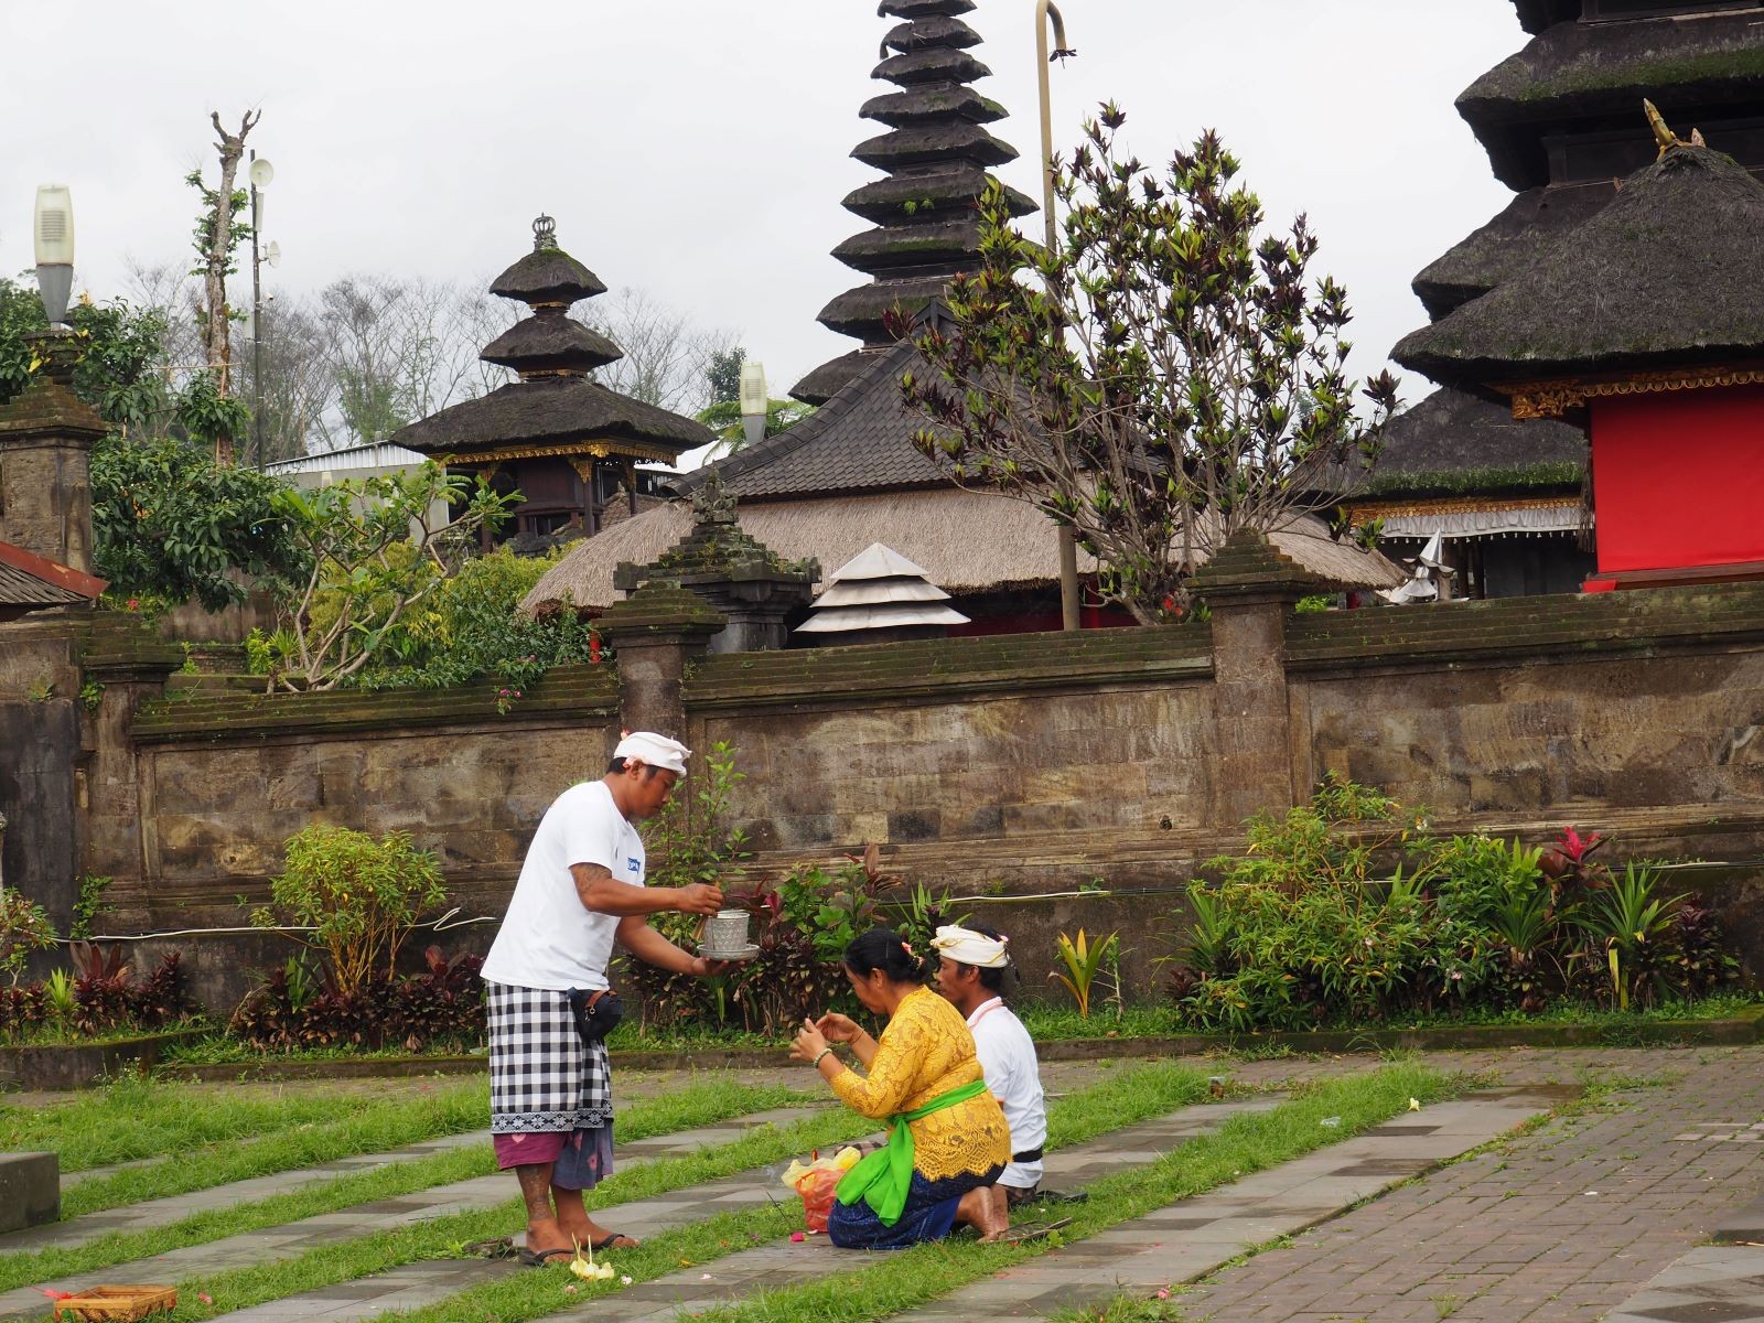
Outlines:
{"label": "large dark thatched roof directly above the bright red wall", "polygon": [[1676,146],[1499,288],[1392,353],[1485,386],[1764,355],[1764,183]]}

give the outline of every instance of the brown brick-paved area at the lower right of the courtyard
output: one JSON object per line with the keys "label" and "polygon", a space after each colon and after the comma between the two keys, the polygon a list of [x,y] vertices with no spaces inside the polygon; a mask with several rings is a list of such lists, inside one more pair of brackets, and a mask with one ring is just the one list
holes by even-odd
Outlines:
{"label": "brown brick-paved area at the lower right of the courtyard", "polygon": [[[1221,1272],[1182,1297],[1184,1316],[1589,1323],[1764,1192],[1757,1145],[1679,1138],[1732,1136],[1764,1118],[1764,1048],[1427,1060],[1464,1057],[1469,1069],[1496,1069],[1506,1080],[1611,1074],[1658,1083],[1619,1094],[1621,1106],[1514,1138]],[[1678,1318],[1739,1316],[1669,1312],[1655,1323]],[[1764,1318],[1764,1309],[1745,1318]]]}

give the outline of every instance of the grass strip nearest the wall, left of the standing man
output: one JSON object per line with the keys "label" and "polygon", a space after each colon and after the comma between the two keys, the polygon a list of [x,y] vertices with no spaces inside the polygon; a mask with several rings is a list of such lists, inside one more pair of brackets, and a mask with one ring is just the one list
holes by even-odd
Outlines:
{"label": "grass strip nearest the wall, left of the standing man", "polygon": [[175,1155],[183,1161],[192,1148],[284,1136],[302,1125],[360,1127],[363,1141],[374,1136],[374,1143],[399,1147],[476,1129],[485,1124],[485,1080],[422,1087],[413,1083],[407,1094],[395,1099],[363,1101],[335,1090],[233,1097],[212,1087],[196,1088],[127,1074],[83,1092],[71,1102],[0,1108],[0,1152],[53,1150],[60,1154],[62,1171],[86,1171],[143,1157]]}

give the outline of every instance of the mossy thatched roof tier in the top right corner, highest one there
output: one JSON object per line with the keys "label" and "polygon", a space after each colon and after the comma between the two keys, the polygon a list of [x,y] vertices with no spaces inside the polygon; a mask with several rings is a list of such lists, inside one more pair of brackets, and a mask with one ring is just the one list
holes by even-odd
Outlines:
{"label": "mossy thatched roof tier in the top right corner, highest one there", "polygon": [[[1695,5],[1686,5],[1695,9]],[[1669,123],[1704,129],[1757,113],[1764,41],[1755,9],[1662,14],[1623,23],[1554,21],[1522,51],[1478,78],[1457,111],[1512,189],[1551,178],[1544,138],[1619,116],[1651,97]]]}

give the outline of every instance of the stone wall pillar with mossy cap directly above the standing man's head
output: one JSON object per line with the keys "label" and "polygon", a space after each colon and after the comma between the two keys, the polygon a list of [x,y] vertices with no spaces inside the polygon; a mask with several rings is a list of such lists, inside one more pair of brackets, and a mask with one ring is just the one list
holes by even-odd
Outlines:
{"label": "stone wall pillar with mossy cap directly above the standing man's head", "polygon": [[[684,739],[686,663],[729,619],[679,584],[649,582],[594,621],[619,663],[619,723]],[[610,750],[609,750],[610,753]]]}

